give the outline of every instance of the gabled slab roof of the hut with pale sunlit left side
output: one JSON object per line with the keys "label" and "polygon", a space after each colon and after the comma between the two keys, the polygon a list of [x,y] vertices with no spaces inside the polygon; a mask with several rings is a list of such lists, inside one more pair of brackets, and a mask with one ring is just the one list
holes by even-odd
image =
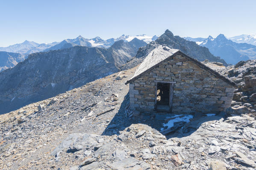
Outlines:
{"label": "gabled slab roof of the hut with pale sunlit left side", "polygon": [[138,79],[147,71],[150,71],[153,68],[156,68],[162,62],[165,62],[165,61],[171,59],[172,57],[176,56],[177,54],[180,54],[183,57],[187,58],[188,60],[194,62],[201,68],[205,69],[206,71],[209,71],[211,74],[222,79],[224,82],[227,82],[232,86],[236,86],[234,82],[230,81],[226,77],[222,76],[218,72],[212,70],[211,68],[207,67],[203,63],[197,61],[196,59],[189,57],[188,55],[182,53],[178,49],[169,48],[169,47],[163,46],[163,45],[159,45],[157,48],[152,50],[150,52],[150,54],[147,55],[147,57],[144,59],[144,61],[141,63],[141,65],[138,67],[138,69],[135,71],[133,77],[131,79],[129,79],[125,84],[128,84],[128,83],[134,81],[135,79]]}

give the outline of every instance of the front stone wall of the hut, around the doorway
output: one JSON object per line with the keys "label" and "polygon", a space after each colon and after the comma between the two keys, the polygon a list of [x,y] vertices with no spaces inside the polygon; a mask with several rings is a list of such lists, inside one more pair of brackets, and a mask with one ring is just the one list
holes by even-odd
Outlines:
{"label": "front stone wall of the hut, around the doorway", "polygon": [[155,82],[174,84],[173,113],[219,113],[229,108],[234,88],[182,55],[162,62],[129,84],[130,107],[150,111],[155,105]]}

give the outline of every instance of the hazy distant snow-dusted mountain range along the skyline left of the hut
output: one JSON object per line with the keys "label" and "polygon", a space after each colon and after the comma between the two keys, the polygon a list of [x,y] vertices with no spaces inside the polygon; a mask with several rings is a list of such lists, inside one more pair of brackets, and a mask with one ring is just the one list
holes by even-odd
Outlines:
{"label": "hazy distant snow-dusted mountain range along the skyline left of the hut", "polygon": [[74,47],[76,45],[85,46],[85,47],[109,48],[119,40],[130,42],[134,38],[138,40],[143,40],[144,42],[149,43],[151,41],[156,40],[158,37],[156,35],[154,35],[153,37],[150,37],[145,34],[136,35],[136,36],[122,35],[121,37],[118,37],[118,38],[103,40],[100,37],[86,39],[81,35],[79,35],[75,39],[66,39],[66,40],[63,40],[62,42],[52,42],[49,44],[46,44],[46,43],[38,44],[36,42],[26,40],[20,44],[10,45],[8,47],[0,47],[0,51],[21,54],[21,57],[18,57],[18,58],[10,57],[10,56],[13,56],[14,54],[6,55],[6,58],[4,57],[4,55],[2,55],[0,59],[0,72],[7,68],[14,67],[18,62],[23,61],[24,59],[27,58],[29,54],[32,54],[32,53],[41,52],[41,51],[47,52],[51,50],[60,50],[60,49]]}

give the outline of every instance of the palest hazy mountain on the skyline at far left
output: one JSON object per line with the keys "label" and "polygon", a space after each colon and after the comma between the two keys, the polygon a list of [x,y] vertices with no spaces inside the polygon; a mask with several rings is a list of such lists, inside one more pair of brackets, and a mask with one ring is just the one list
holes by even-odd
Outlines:
{"label": "palest hazy mountain on the skyline at far left", "polygon": [[24,41],[19,44],[9,45],[8,47],[0,47],[0,51],[12,52],[12,53],[20,53],[24,55],[32,54],[35,52],[43,51],[46,48],[49,48],[53,45],[56,45],[59,42],[52,42],[52,43],[43,43],[38,44],[33,41]]}

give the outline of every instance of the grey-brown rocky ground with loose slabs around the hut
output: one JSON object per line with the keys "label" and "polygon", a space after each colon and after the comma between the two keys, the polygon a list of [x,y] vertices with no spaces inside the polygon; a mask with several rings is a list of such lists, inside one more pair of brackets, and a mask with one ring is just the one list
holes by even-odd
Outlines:
{"label": "grey-brown rocky ground with loose slabs around the hut", "polygon": [[193,115],[190,122],[174,122],[174,131],[164,136],[159,133],[163,123],[175,118],[129,114],[124,83],[135,69],[0,115],[0,169],[256,168],[252,109],[228,113],[230,117]]}

